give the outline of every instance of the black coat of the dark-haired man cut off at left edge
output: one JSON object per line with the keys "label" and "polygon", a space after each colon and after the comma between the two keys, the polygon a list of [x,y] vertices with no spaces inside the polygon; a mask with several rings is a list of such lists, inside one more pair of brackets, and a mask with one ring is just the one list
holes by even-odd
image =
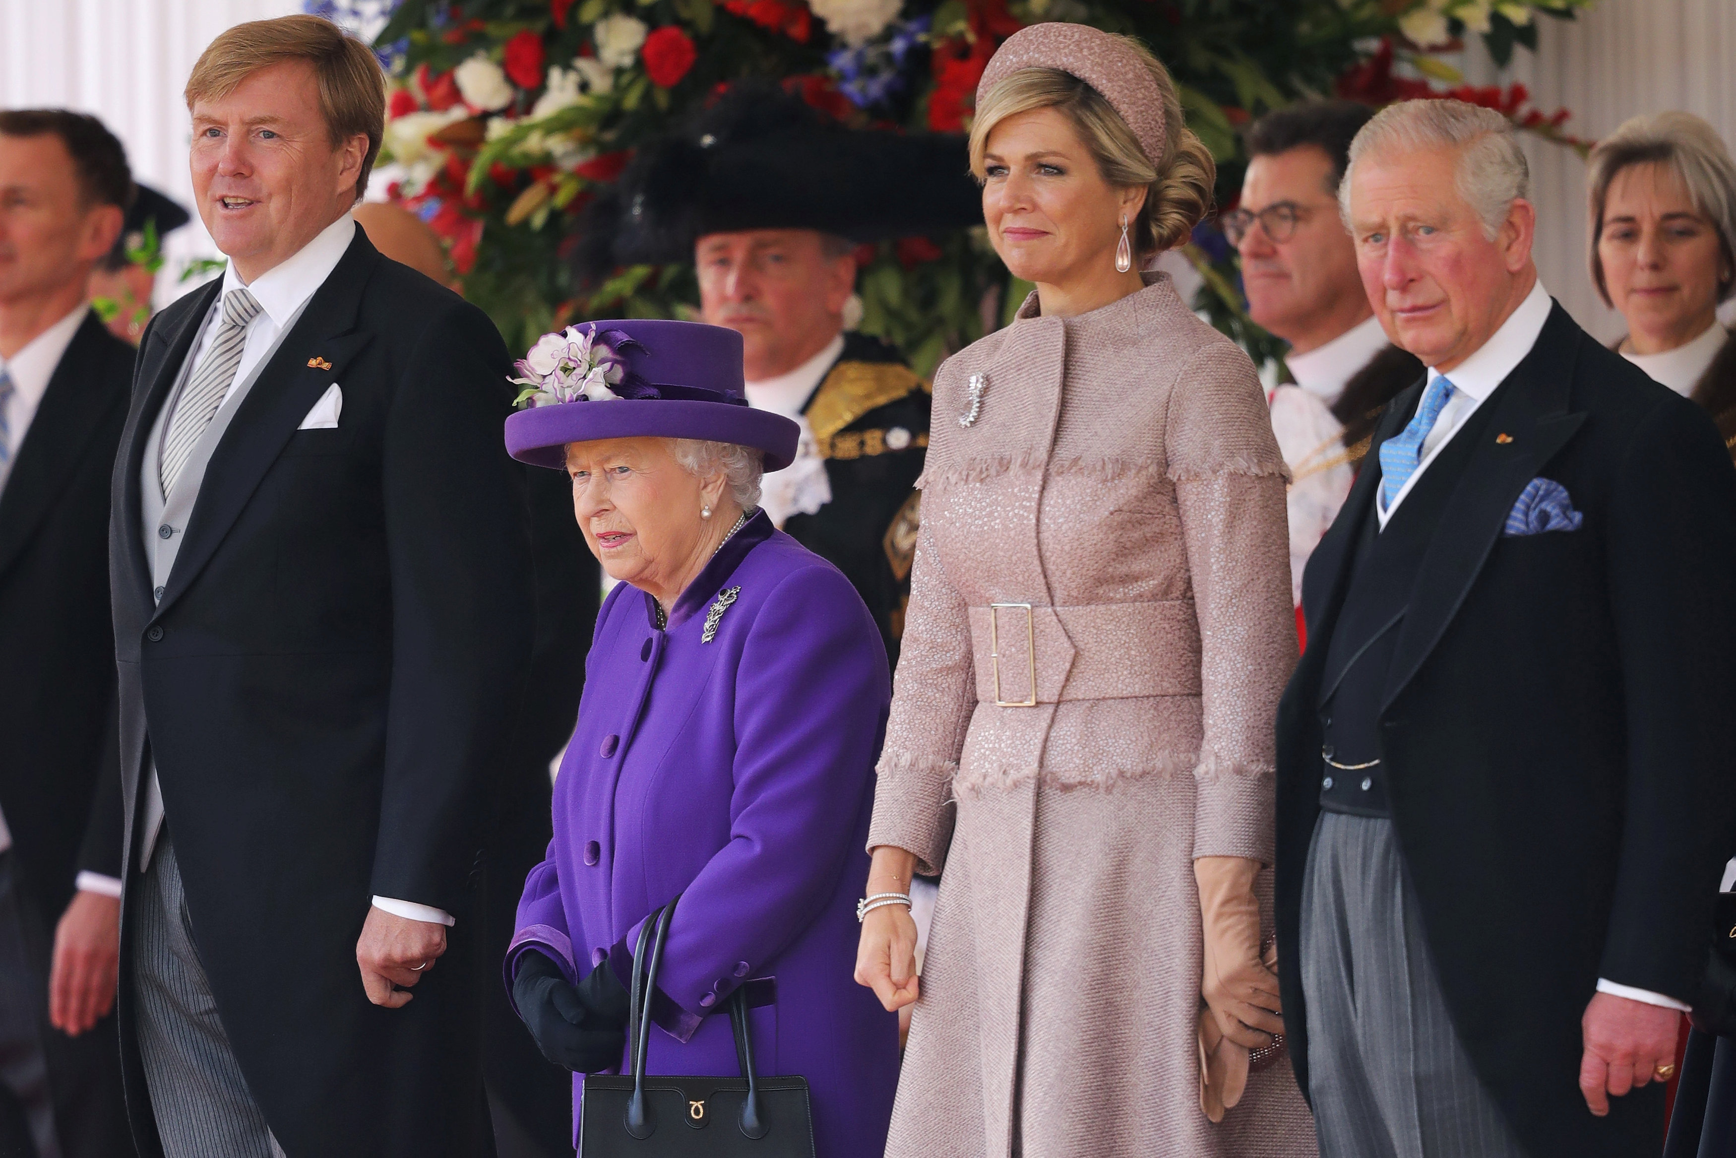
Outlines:
{"label": "black coat of the dark-haired man cut off at left edge", "polygon": [[[85,316],[0,493],[0,809],[43,979],[73,878],[122,875],[108,521],[132,361]],[[49,1028],[47,986],[40,998],[69,1158],[128,1153],[113,1014],[68,1038]]]}

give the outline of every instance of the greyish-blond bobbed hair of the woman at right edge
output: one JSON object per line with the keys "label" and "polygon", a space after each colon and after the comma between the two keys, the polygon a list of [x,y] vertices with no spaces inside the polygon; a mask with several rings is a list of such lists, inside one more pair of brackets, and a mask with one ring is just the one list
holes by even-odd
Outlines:
{"label": "greyish-blond bobbed hair of the woman at right edge", "polygon": [[[1736,266],[1736,163],[1717,128],[1693,113],[1634,116],[1597,142],[1587,160],[1585,191],[1590,222],[1592,283],[1609,300],[1597,241],[1604,233],[1604,203],[1616,174],[1632,165],[1661,165],[1675,174],[1694,210],[1719,231],[1726,266]],[[1719,278],[1719,300],[1736,293],[1736,273]]]}

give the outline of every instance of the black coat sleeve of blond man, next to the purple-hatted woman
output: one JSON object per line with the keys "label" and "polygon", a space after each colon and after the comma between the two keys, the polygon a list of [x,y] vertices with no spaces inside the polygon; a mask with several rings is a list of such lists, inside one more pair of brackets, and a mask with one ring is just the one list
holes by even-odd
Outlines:
{"label": "black coat sleeve of blond man, next to the purple-hatted woman", "polygon": [[392,688],[373,894],[453,911],[529,663],[531,547],[500,335],[451,300],[415,351],[382,458]]}

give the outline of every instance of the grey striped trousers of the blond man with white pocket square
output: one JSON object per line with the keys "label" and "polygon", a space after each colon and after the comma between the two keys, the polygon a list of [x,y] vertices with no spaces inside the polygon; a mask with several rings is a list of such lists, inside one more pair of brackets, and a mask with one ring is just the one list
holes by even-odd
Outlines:
{"label": "grey striped trousers of the blond man with white pocket square", "polygon": [[132,905],[139,1052],[167,1158],[285,1158],[247,1089],[193,944],[168,830]]}

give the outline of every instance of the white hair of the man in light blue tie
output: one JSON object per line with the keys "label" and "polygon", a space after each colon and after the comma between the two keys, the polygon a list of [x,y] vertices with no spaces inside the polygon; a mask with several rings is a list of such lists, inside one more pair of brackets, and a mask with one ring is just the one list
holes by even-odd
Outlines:
{"label": "white hair of the man in light blue tie", "polygon": [[1338,215],[1345,227],[1351,227],[1351,177],[1358,161],[1368,155],[1418,149],[1458,149],[1453,184],[1489,241],[1502,231],[1512,203],[1531,198],[1531,167],[1510,120],[1463,101],[1399,101],[1375,113],[1351,141],[1351,161],[1338,184]]}

